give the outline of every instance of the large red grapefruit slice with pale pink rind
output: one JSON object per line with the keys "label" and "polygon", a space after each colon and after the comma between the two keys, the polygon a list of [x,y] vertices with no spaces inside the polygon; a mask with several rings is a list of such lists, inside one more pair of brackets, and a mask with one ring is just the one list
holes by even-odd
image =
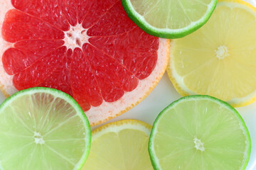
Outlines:
{"label": "large red grapefruit slice with pale pink rind", "polygon": [[144,33],[119,0],[2,0],[0,89],[73,96],[91,125],[142,101],[165,72],[169,40]]}

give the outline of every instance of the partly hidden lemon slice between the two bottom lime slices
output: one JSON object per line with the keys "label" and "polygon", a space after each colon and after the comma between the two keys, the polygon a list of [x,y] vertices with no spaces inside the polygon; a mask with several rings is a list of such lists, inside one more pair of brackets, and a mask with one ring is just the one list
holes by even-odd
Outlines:
{"label": "partly hidden lemon slice between the two bottom lime slices", "polygon": [[151,126],[121,120],[92,132],[92,147],[82,170],[153,169],[148,152]]}

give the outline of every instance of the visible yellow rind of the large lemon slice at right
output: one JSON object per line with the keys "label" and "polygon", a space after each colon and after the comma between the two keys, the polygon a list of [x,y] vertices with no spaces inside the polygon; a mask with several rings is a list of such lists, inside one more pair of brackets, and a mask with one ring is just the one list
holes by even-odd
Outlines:
{"label": "visible yellow rind of the large lemon slice at right", "polygon": [[[249,7],[252,14],[254,14],[255,18],[256,18],[256,8],[254,6],[252,6],[251,4],[249,4],[245,1],[242,1],[242,0],[219,0],[217,6],[225,5],[230,2],[237,3],[234,5],[238,6],[239,8],[244,8],[246,10],[248,10],[247,7]],[[172,84],[174,84],[174,88],[176,89],[176,91],[178,91],[178,93],[181,94],[181,96],[197,95],[195,92],[188,89],[186,84],[184,84],[182,77],[174,69],[174,62],[172,62],[173,57],[174,57],[174,55],[173,55],[173,48],[175,46],[174,41],[175,40],[171,40],[171,42],[170,42],[171,52],[170,52],[170,57],[169,57],[169,64],[166,69],[169,79],[171,80]],[[252,94],[249,94],[245,97],[233,98],[232,100],[226,101],[226,102],[229,103],[231,106],[238,108],[238,107],[250,105],[251,103],[254,103],[255,101],[256,101],[256,90]]]}

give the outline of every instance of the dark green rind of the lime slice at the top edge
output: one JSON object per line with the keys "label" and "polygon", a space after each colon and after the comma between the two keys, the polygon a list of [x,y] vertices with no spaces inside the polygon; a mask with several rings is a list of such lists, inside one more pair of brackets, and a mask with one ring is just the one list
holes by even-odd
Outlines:
{"label": "dark green rind of the lime slice at the top edge", "polygon": [[127,13],[129,18],[139,26],[139,28],[142,28],[146,33],[149,33],[150,35],[154,35],[159,38],[183,38],[184,36],[193,33],[194,31],[201,28],[210,18],[212,15],[218,0],[212,0],[210,4],[208,4],[208,9],[206,11],[206,15],[203,16],[201,19],[199,19],[196,22],[191,23],[191,25],[181,28],[181,29],[169,29],[169,28],[155,28],[154,26],[151,26],[149,23],[145,21],[143,16],[141,16],[137,11],[135,11],[134,7],[132,6],[132,3],[130,0],[121,0],[122,6],[124,7],[124,11]]}

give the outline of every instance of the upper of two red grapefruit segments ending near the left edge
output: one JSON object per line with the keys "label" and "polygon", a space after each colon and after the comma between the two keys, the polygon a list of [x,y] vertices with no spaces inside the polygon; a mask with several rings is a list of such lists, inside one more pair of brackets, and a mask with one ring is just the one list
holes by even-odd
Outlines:
{"label": "upper of two red grapefruit segments ending near the left edge", "polygon": [[7,42],[31,39],[61,40],[64,38],[63,31],[16,9],[6,13],[1,33]]}

